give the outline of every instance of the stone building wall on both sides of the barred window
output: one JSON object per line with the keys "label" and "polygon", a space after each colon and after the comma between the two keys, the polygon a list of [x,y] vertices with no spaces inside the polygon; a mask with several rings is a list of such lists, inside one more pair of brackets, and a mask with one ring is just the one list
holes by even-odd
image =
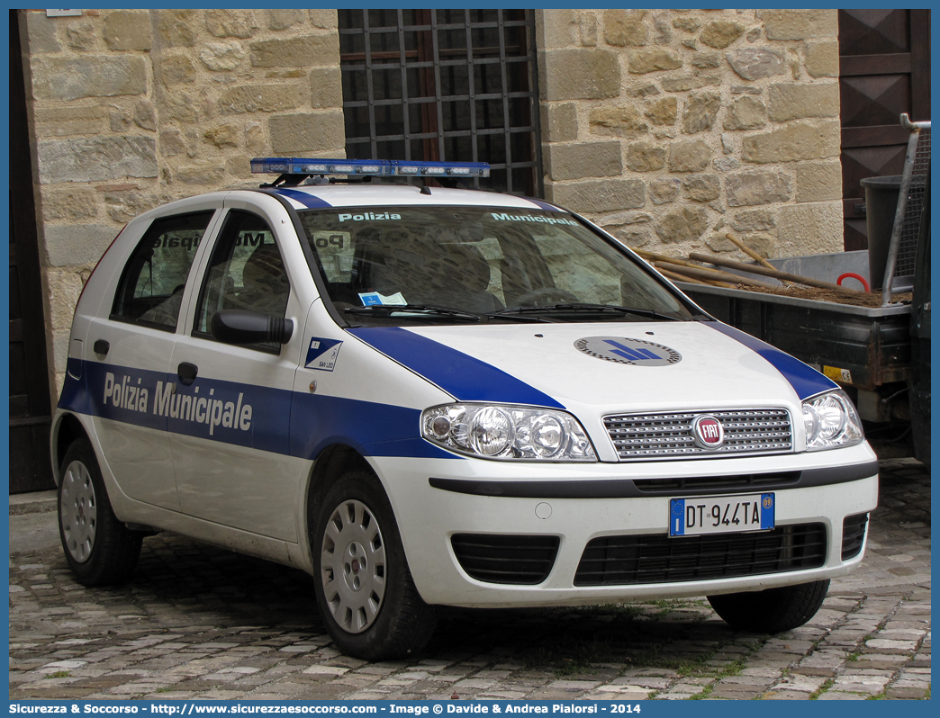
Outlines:
{"label": "stone building wall on both sides of the barred window", "polygon": [[[20,10],[50,382],[124,223],[345,156],[336,10]],[[536,11],[545,198],[632,246],[842,248],[836,10]],[[469,159],[469,158],[446,158]],[[485,160],[486,158],[479,158]]]}

